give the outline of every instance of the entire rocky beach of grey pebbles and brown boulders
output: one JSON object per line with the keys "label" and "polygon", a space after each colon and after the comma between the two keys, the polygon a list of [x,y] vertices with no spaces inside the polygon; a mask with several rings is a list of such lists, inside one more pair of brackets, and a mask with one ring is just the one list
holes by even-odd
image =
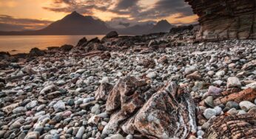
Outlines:
{"label": "entire rocky beach of grey pebbles and brown boulders", "polygon": [[255,138],[256,41],[193,34],[1,52],[0,138]]}

